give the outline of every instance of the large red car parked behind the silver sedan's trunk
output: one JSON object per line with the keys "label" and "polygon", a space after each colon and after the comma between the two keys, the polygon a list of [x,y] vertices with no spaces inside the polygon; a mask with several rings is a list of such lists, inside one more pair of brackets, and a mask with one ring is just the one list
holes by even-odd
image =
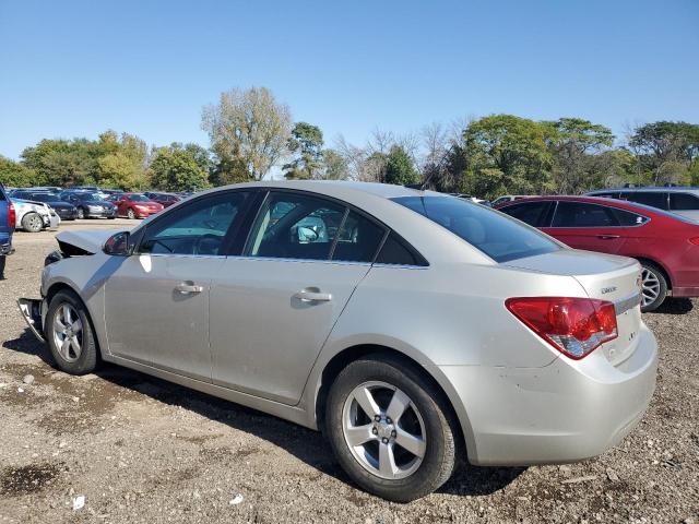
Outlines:
{"label": "large red car parked behind the silver sedan's trunk", "polygon": [[574,249],[632,257],[643,266],[642,311],[665,297],[699,297],[699,223],[655,207],[594,196],[538,196],[498,211]]}

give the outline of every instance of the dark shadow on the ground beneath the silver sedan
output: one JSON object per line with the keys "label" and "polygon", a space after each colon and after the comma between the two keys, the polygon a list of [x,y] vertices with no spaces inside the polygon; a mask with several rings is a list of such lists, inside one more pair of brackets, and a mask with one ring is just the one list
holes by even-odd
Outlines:
{"label": "dark shadow on the ground beneath the silver sedan", "polygon": [[[2,344],[5,349],[38,356],[54,367],[48,347],[26,330],[19,338]],[[312,431],[261,412],[223,401],[204,393],[110,364],[102,364],[96,374],[111,384],[137,391],[158,402],[190,409],[239,431],[268,440],[316,469],[353,484],[337,465],[330,445],[320,432]],[[462,467],[438,492],[455,496],[486,496],[514,480],[523,467]]]}

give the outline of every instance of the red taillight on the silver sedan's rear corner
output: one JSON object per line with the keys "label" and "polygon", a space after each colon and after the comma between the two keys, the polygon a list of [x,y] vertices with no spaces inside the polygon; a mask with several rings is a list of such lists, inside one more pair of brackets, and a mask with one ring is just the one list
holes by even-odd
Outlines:
{"label": "red taillight on the silver sedan's rear corner", "polygon": [[591,298],[509,298],[505,306],[534,333],[576,360],[618,336],[612,302]]}

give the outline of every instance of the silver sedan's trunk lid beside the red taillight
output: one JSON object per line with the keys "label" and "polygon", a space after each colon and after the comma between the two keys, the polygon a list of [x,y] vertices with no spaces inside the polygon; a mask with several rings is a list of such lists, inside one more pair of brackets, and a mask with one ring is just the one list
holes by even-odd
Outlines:
{"label": "silver sedan's trunk lid beside the red taillight", "polygon": [[590,298],[613,302],[617,314],[618,336],[596,350],[602,350],[615,366],[633,354],[641,325],[641,266],[638,261],[613,254],[564,249],[512,260],[505,265],[572,276]]}

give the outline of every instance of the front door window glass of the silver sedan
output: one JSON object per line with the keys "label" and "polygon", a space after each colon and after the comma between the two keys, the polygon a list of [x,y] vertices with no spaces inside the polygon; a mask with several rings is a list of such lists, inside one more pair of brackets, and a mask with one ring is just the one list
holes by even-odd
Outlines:
{"label": "front door window glass of the silver sedan", "polygon": [[200,199],[149,224],[139,251],[159,254],[223,254],[228,229],[249,193],[220,193]]}

